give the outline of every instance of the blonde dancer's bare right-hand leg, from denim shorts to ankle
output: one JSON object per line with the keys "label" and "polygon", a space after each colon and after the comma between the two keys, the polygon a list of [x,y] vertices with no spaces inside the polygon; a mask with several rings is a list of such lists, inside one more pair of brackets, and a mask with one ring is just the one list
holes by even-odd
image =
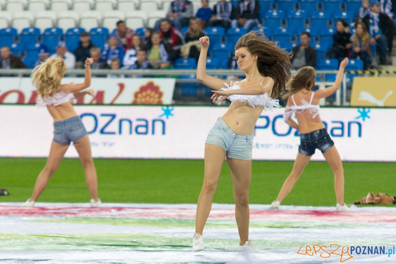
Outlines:
{"label": "blonde dancer's bare right-hand leg, from denim shorts to ankle", "polygon": [[98,202],[98,177],[96,174],[94,159],[91,154],[91,145],[88,135],[85,135],[85,137],[75,142],[74,147],[78,152],[81,164],[85,170],[85,181],[87,183],[91,199]]}

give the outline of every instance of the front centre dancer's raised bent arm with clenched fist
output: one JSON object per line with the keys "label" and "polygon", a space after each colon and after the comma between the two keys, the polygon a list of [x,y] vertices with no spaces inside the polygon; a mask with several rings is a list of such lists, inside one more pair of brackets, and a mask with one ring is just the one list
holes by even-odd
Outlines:
{"label": "front centre dancer's raised bent arm with clenched fist", "polygon": [[209,48],[209,38],[199,38],[201,43],[201,52],[199,53],[198,66],[197,66],[197,80],[213,90],[220,90],[224,83],[230,84],[231,81],[223,81],[221,79],[206,75],[206,56]]}

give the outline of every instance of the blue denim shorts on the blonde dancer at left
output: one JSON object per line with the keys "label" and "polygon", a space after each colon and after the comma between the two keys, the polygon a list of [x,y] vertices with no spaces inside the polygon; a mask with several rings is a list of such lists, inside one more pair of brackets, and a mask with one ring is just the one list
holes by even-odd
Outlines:
{"label": "blue denim shorts on the blonde dancer at left", "polygon": [[87,135],[80,116],[73,116],[53,123],[53,141],[61,145],[77,142]]}

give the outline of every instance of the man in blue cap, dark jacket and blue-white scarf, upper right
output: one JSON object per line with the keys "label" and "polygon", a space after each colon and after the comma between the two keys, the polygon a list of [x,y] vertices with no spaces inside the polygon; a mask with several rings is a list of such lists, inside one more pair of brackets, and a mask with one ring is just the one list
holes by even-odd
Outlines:
{"label": "man in blue cap, dark jacket and blue-white scarf, upper right", "polygon": [[396,26],[388,15],[381,13],[379,1],[374,0],[370,5],[371,13],[363,17],[362,22],[366,24],[371,36],[370,43],[380,48],[380,64],[388,64],[386,61],[387,48],[391,53]]}

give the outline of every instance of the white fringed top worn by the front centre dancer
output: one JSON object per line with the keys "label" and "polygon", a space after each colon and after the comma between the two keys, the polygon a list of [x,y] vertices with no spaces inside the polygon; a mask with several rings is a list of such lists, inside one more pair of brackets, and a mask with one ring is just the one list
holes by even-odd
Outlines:
{"label": "white fringed top worn by the front centre dancer", "polygon": [[[263,82],[263,80],[261,80],[261,83]],[[221,88],[220,91],[241,89],[241,87],[237,85],[237,82],[233,83],[231,81],[230,85],[228,85],[227,83],[224,84],[227,86],[227,88]],[[241,103],[248,103],[249,106],[252,106],[254,108],[255,106],[264,106],[264,111],[272,111],[274,107],[281,107],[279,105],[279,100],[274,100],[268,97],[268,93],[265,93],[263,95],[230,95],[228,97],[228,100],[230,100],[231,102],[239,101]]]}

